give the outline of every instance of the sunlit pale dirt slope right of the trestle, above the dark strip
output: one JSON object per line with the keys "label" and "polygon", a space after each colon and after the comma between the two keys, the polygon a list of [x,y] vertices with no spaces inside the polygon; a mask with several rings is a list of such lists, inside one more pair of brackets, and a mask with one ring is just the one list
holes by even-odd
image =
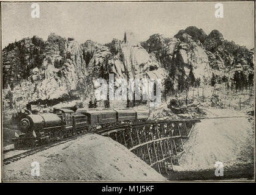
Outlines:
{"label": "sunlit pale dirt slope right of the trestle, above the dark strip", "polygon": [[[208,110],[208,116],[241,116],[234,110]],[[184,143],[185,153],[177,171],[215,169],[216,161],[224,168],[254,165],[254,129],[247,118],[204,119],[195,126]]]}

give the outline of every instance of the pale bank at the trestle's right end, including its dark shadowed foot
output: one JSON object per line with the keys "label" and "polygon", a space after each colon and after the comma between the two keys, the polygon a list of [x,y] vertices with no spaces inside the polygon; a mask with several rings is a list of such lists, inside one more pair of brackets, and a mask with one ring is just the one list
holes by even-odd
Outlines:
{"label": "pale bank at the trestle's right end, including its dark shadowed foot", "polygon": [[[241,112],[210,108],[208,117],[243,116]],[[254,124],[247,117],[205,119],[198,122],[170,180],[227,180],[254,178]],[[216,177],[215,164],[224,165]]]}

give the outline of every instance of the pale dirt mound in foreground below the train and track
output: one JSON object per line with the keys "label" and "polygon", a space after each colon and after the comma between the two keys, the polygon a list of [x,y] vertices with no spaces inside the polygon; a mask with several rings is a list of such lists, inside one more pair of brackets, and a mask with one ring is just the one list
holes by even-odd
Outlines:
{"label": "pale dirt mound in foreground below the train and track", "polygon": [[[40,176],[31,176],[38,161]],[[86,135],[4,166],[4,180],[162,181],[163,176],[126,147],[100,135]]]}

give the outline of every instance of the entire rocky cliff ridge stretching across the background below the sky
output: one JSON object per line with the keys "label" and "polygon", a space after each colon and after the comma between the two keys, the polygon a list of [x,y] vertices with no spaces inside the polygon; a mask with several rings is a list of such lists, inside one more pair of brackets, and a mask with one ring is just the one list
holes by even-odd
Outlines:
{"label": "entire rocky cliff ridge stretching across the background below the sky", "polygon": [[[83,44],[50,34],[24,38],[2,50],[4,108],[26,104],[55,105],[94,95],[94,80],[108,78],[161,78],[165,88],[183,90],[184,83],[209,82],[213,73],[233,77],[234,70],[253,73],[253,53],[224,40],[219,31],[206,35],[188,27],[173,38],[155,34],[139,42],[132,32],[123,40]],[[232,74],[230,74],[232,73]],[[167,83],[167,84],[166,84]],[[200,83],[200,82],[199,82]]]}

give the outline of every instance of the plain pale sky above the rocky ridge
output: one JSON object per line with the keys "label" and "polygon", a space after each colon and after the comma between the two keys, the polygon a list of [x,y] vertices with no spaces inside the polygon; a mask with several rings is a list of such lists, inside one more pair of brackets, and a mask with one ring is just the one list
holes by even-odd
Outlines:
{"label": "plain pale sky above the rocky ridge", "polygon": [[217,2],[48,2],[39,3],[39,18],[32,18],[32,3],[2,3],[2,46],[37,35],[47,40],[51,32],[108,43],[122,40],[126,30],[138,40],[152,34],[173,37],[188,26],[206,34],[219,30],[224,38],[254,48],[254,2],[220,2],[224,17],[216,18]]}

